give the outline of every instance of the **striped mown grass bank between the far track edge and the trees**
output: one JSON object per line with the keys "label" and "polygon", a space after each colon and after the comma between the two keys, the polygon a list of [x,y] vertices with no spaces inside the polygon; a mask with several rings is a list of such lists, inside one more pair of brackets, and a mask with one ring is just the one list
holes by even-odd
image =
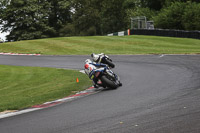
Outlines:
{"label": "striped mown grass bank between the far track edge and the trees", "polygon": [[44,55],[199,54],[200,40],[156,36],[62,37],[18,41],[0,45],[0,52]]}

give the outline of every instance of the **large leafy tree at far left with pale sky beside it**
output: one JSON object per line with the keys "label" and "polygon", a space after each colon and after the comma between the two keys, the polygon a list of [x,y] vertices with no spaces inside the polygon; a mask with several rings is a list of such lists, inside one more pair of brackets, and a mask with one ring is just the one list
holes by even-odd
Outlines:
{"label": "large leafy tree at far left with pale sky beside it", "polygon": [[3,10],[4,31],[9,31],[7,40],[28,40],[51,37],[55,30],[48,26],[46,0],[15,0]]}

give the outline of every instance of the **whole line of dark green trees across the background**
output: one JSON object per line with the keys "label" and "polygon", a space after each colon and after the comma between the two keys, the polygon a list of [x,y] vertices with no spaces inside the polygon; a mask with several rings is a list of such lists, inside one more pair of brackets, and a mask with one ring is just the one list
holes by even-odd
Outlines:
{"label": "whole line of dark green trees across the background", "polygon": [[156,28],[200,30],[199,0],[1,0],[7,40],[105,35],[146,16]]}

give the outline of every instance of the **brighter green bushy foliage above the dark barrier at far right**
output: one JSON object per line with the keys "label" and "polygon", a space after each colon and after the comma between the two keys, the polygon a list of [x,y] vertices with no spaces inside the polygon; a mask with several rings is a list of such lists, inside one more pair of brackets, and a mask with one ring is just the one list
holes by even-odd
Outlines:
{"label": "brighter green bushy foliage above the dark barrier at far right", "polygon": [[155,26],[164,29],[200,30],[200,3],[174,2],[154,17]]}

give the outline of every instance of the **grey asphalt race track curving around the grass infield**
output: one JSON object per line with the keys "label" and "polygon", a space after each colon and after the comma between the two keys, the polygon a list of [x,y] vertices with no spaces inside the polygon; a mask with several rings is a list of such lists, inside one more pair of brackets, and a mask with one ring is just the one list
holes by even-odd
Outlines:
{"label": "grey asphalt race track curving around the grass infield", "polygon": [[[89,56],[0,56],[0,64],[83,69]],[[200,55],[116,55],[123,86],[0,119],[0,133],[199,133]]]}

